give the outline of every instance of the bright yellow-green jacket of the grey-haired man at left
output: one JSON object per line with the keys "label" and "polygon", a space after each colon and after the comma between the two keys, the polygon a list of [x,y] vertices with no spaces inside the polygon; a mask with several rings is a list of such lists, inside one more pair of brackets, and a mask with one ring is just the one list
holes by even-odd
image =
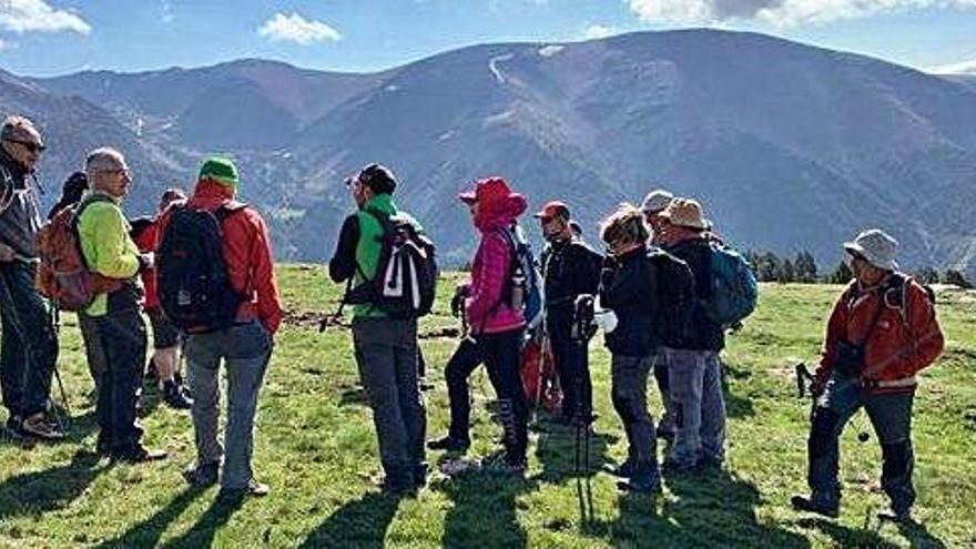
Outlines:
{"label": "bright yellow-green jacket of the grey-haired man at left", "polygon": [[[90,201],[91,196],[85,197]],[[78,218],[81,253],[93,273],[110,278],[134,278],[139,274],[139,248],[129,236],[129,222],[119,201],[98,201],[84,206]],[[133,281],[138,284],[138,278]],[[104,316],[106,294],[95,296],[85,311],[89,316]]]}

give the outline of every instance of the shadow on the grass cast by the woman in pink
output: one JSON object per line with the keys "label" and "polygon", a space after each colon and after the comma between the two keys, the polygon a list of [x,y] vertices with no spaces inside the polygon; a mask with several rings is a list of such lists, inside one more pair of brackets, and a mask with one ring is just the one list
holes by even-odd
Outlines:
{"label": "shadow on the grass cast by the woman in pink", "polygon": [[454,504],[444,521],[441,547],[526,547],[528,535],[518,521],[516,498],[535,479],[472,471],[438,484]]}

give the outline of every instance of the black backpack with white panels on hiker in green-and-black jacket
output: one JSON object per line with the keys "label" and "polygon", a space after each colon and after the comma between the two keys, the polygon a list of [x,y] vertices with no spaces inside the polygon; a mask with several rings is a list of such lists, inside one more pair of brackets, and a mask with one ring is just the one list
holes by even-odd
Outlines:
{"label": "black backpack with white panels on hiker in green-and-black jacket", "polygon": [[[380,250],[376,275],[354,291],[360,296],[357,301],[373,304],[390,318],[427,315],[434,307],[437,292],[434,242],[417,231],[408,215],[388,215],[375,207],[364,211],[379,222],[383,234],[377,237]],[[362,270],[359,274],[363,274]]]}

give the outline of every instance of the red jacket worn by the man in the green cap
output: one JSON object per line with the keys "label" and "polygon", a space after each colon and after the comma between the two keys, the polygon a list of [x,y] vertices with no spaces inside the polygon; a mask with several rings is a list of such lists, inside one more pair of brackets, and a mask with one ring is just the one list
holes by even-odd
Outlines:
{"label": "red jacket worn by the man in the green cap", "polygon": [[[234,193],[231,189],[211,180],[203,180],[196,184],[187,205],[213,212],[222,205],[231,204],[233,200]],[[169,221],[167,211],[160,218],[159,235],[165,232]],[[222,228],[224,261],[227,264],[231,285],[235,292],[252,296],[250,301],[241,304],[237,319],[250,321],[256,317],[270,333],[274,334],[282,324],[282,302],[274,274],[267,226],[254,209],[245,207],[224,220]]]}

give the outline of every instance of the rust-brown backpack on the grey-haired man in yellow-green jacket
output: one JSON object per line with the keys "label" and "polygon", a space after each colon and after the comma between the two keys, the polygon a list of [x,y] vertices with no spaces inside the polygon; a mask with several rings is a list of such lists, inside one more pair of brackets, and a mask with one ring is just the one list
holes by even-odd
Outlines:
{"label": "rust-brown backpack on the grey-haired man in yellow-green jacket", "polygon": [[102,194],[92,194],[73,207],[61,209],[38,232],[40,264],[34,286],[62,311],[84,311],[95,296],[122,285],[121,281],[89,270],[78,234],[78,220],[84,209],[95,202],[110,201]]}

